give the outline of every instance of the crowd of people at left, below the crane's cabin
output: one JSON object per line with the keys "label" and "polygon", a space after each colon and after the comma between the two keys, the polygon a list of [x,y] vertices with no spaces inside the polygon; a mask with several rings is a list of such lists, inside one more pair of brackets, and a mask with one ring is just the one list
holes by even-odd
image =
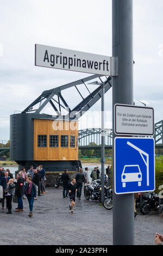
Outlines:
{"label": "crowd of people at left, below the crane's cabin", "polygon": [[37,196],[46,194],[45,192],[45,169],[42,165],[34,169],[30,166],[27,170],[22,168],[17,173],[16,179],[9,169],[0,168],[0,185],[3,187],[1,196],[2,210],[4,210],[4,202],[6,200],[7,214],[12,214],[12,200],[17,198],[16,212],[23,211],[23,200],[27,198],[29,203],[29,217],[33,215],[33,203]]}

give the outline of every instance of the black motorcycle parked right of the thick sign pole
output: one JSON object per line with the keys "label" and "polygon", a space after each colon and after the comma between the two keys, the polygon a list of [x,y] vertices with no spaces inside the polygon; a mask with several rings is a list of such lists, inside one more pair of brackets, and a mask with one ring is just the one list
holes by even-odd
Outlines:
{"label": "black motorcycle parked right of the thick sign pole", "polygon": [[154,192],[143,194],[143,203],[140,206],[140,212],[145,215],[148,214],[151,209],[159,211],[159,195]]}

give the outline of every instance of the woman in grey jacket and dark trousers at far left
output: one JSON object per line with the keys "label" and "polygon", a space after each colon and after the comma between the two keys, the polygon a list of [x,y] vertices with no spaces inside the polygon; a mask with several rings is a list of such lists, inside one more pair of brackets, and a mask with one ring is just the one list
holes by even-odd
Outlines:
{"label": "woman in grey jacket and dark trousers at far left", "polygon": [[11,212],[12,197],[14,194],[14,187],[15,187],[15,184],[13,184],[13,182],[14,182],[14,179],[10,179],[7,187],[5,188],[5,198],[6,198],[6,202],[7,202],[7,208],[8,208],[7,214],[12,214],[12,212]]}

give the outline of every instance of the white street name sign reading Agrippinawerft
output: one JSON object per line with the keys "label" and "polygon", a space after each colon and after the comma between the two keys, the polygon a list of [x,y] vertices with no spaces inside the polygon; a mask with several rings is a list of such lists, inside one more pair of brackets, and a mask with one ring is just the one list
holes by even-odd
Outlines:
{"label": "white street name sign reading Agrippinawerft", "polygon": [[35,44],[35,66],[117,76],[118,58]]}

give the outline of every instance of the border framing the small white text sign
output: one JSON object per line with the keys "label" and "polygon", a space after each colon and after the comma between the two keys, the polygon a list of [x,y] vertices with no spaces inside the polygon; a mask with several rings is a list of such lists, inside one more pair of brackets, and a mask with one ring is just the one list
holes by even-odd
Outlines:
{"label": "border framing the small white text sign", "polygon": [[[135,108],[150,108],[150,109],[153,109],[153,133],[152,134],[149,134],[149,133],[117,133],[116,132],[116,106],[122,106],[122,107],[135,107]],[[119,104],[119,103],[116,103],[114,105],[114,133],[118,136],[135,136],[135,135],[139,135],[139,136],[153,136],[154,135],[154,108],[153,107],[141,107],[141,106],[135,106],[135,105],[127,105],[127,104]]]}

